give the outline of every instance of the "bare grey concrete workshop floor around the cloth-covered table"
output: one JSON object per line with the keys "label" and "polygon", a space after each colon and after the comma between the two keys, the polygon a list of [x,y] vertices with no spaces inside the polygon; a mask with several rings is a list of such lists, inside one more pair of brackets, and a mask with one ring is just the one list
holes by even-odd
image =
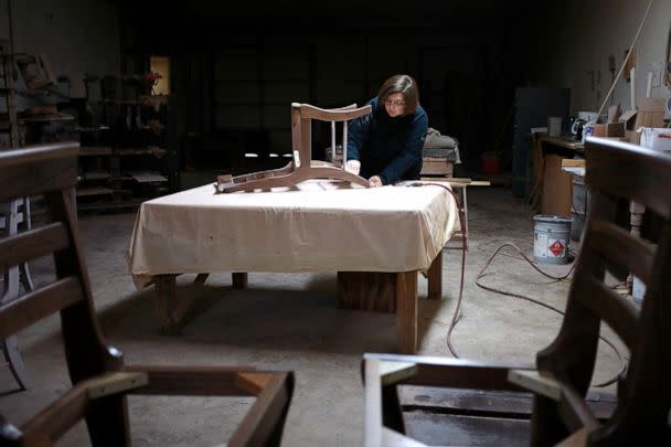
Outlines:
{"label": "bare grey concrete workshop floor around the cloth-covered table", "polygon": [[[537,350],[555,336],[561,316],[524,300],[486,291],[475,278],[500,243],[514,241],[532,252],[531,212],[501,188],[470,188],[471,248],[466,262],[462,317],[452,344],[461,358],[533,363]],[[125,260],[135,213],[79,217],[84,255],[95,306],[110,344],[127,363],[249,364],[292,370],[296,391],[285,429],[285,446],[360,446],[363,444],[364,352],[395,352],[393,315],[341,310],[336,304],[336,274],[251,274],[249,287],[227,291],[231,276],[211,275],[206,284],[179,278],[178,294],[199,294],[211,307],[179,337],[162,337],[152,289],[135,289]],[[526,242],[526,244],[524,244]],[[563,308],[568,281],[537,274],[512,252],[492,263],[483,281]],[[419,353],[451,356],[446,345],[459,288],[460,252],[446,251],[444,299],[426,300],[419,277]],[[561,275],[569,265],[540,265]],[[51,262],[31,266],[38,284],[51,277]],[[9,369],[0,366],[0,413],[20,425],[67,386],[60,322],[52,318],[19,334],[34,381],[18,391]],[[601,343],[603,344],[603,343]],[[603,347],[604,348],[604,347]],[[607,347],[599,352],[595,382],[613,376],[619,360]],[[132,397],[134,445],[212,446],[225,443],[249,407],[249,398]],[[83,424],[62,445],[88,445]]]}

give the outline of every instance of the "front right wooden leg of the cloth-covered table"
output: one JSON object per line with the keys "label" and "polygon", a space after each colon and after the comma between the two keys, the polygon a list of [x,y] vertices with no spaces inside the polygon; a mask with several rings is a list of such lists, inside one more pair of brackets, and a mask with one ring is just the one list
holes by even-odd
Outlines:
{"label": "front right wooden leg of the cloth-covered table", "polygon": [[398,352],[417,352],[417,272],[396,274]]}

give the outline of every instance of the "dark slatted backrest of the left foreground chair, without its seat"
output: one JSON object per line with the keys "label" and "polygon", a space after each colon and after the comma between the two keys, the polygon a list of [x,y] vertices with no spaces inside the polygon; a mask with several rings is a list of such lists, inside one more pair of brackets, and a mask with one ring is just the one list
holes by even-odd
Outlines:
{"label": "dark slatted backrest of the left foreground chair, without its seat", "polygon": [[[20,265],[53,255],[56,277],[0,308],[0,338],[61,313],[65,354],[73,381],[120,362],[105,347],[94,319],[90,285],[77,244],[71,191],[76,184],[78,143],[55,143],[0,152],[0,202],[41,195],[46,223],[0,240],[0,264]],[[120,364],[120,363],[119,363]]]}

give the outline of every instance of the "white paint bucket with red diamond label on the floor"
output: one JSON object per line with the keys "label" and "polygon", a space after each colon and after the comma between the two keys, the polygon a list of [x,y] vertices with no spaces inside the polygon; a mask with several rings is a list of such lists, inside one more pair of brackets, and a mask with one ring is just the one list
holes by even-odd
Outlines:
{"label": "white paint bucket with red diamond label on the floor", "polygon": [[543,264],[567,264],[571,219],[539,214],[533,220],[534,260]]}

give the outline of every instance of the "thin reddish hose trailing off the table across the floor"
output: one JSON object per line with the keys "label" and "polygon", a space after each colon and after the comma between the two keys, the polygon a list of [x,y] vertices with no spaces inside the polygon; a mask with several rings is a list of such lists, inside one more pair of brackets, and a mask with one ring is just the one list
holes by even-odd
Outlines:
{"label": "thin reddish hose trailing off the table across the floor", "polygon": [[[450,195],[452,196],[452,199],[455,200],[455,203],[457,204],[457,209],[459,210],[459,223],[461,225],[461,228],[465,228],[465,221],[466,221],[466,214],[464,212],[464,210],[461,209],[460,202],[459,202],[459,198],[457,195],[456,192],[454,192],[450,188],[446,187],[445,184],[441,183],[436,183],[436,182],[412,182],[412,183],[397,183],[398,185],[405,185],[405,187],[411,187],[411,188],[416,188],[416,187],[426,187],[426,185],[434,185],[434,187],[440,187],[443,189],[445,189],[446,191],[448,191],[450,193]],[[498,240],[497,240],[498,241]],[[515,240],[518,242],[522,242],[524,244],[529,244],[526,241],[521,241],[521,240]],[[455,308],[455,312],[452,313],[452,319],[449,323],[449,328],[447,330],[447,337],[446,337],[446,343],[447,343],[447,348],[449,349],[449,351],[451,352],[451,354],[459,359],[459,354],[457,353],[455,347],[451,343],[451,334],[455,330],[455,327],[457,326],[457,322],[459,321],[459,319],[461,318],[461,302],[462,302],[462,298],[464,298],[464,277],[465,277],[465,269],[466,269],[466,237],[461,238],[462,242],[462,249],[461,249],[461,272],[459,275],[459,296],[457,298],[457,306]],[[478,245],[479,249],[483,249],[483,245],[488,245],[492,242],[496,241],[490,241],[489,243],[486,244],[480,244]],[[531,245],[531,244],[529,244]],[[575,268],[575,264],[573,266],[571,266],[571,268],[568,269],[568,272],[564,275],[561,276],[553,276],[546,272],[543,272],[541,268],[539,268],[530,258],[529,256],[526,256],[526,254],[524,254],[524,252],[522,252],[515,244],[513,244],[512,242],[505,242],[503,244],[501,244],[494,252],[493,254],[489,257],[489,259],[487,260],[484,267],[482,267],[482,269],[480,270],[480,273],[478,274],[478,276],[476,277],[476,285],[484,290],[489,290],[492,292],[497,292],[497,294],[501,294],[501,295],[505,295],[505,296],[510,296],[513,298],[519,298],[519,299],[523,299],[533,304],[536,304],[539,306],[542,306],[546,309],[550,309],[556,313],[560,313],[561,316],[564,316],[565,313],[561,310],[557,309],[554,306],[551,306],[548,304],[545,304],[543,301],[540,301],[537,299],[531,298],[531,297],[526,297],[522,294],[515,294],[512,291],[507,291],[507,290],[501,290],[491,286],[486,286],[483,285],[480,279],[484,276],[484,273],[487,272],[487,268],[489,268],[490,264],[492,263],[493,258],[501,252],[501,249],[503,249],[507,246],[512,246],[514,249],[516,249],[516,252],[522,256],[522,258],[524,260],[526,260],[536,272],[539,272],[540,274],[542,274],[543,276],[546,276],[551,279],[554,280],[564,280],[566,278],[568,278],[571,276],[571,274],[573,273],[574,268]],[[484,249],[483,249],[484,251]],[[490,252],[491,253],[491,252]],[[503,254],[505,256],[510,256],[507,254]],[[510,256],[510,257],[515,257],[519,258],[516,256]],[[598,383],[594,386],[596,387],[604,387],[604,386],[608,386],[615,382],[617,382],[617,380],[625,373],[625,371],[627,370],[627,362],[626,360],[622,358],[622,355],[620,354],[619,350],[615,347],[615,344],[613,342],[610,342],[608,339],[604,338],[603,336],[599,336],[599,339],[601,339],[607,345],[610,347],[610,349],[613,349],[613,351],[616,353],[617,358],[620,361],[621,364],[621,369],[620,371],[613,376],[611,379]]]}

